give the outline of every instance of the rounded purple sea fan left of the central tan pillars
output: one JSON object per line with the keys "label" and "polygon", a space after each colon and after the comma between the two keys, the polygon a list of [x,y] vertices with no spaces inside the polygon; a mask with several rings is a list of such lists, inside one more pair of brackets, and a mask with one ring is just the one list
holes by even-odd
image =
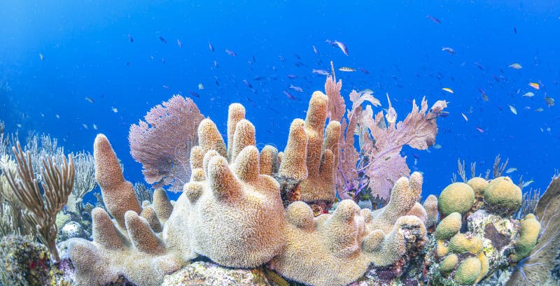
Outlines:
{"label": "rounded purple sea fan left of the central tan pillars", "polygon": [[172,192],[180,192],[190,178],[190,148],[198,143],[198,124],[204,116],[192,99],[174,95],[144,119],[130,126],[130,154],[142,164],[147,183],[171,185]]}

